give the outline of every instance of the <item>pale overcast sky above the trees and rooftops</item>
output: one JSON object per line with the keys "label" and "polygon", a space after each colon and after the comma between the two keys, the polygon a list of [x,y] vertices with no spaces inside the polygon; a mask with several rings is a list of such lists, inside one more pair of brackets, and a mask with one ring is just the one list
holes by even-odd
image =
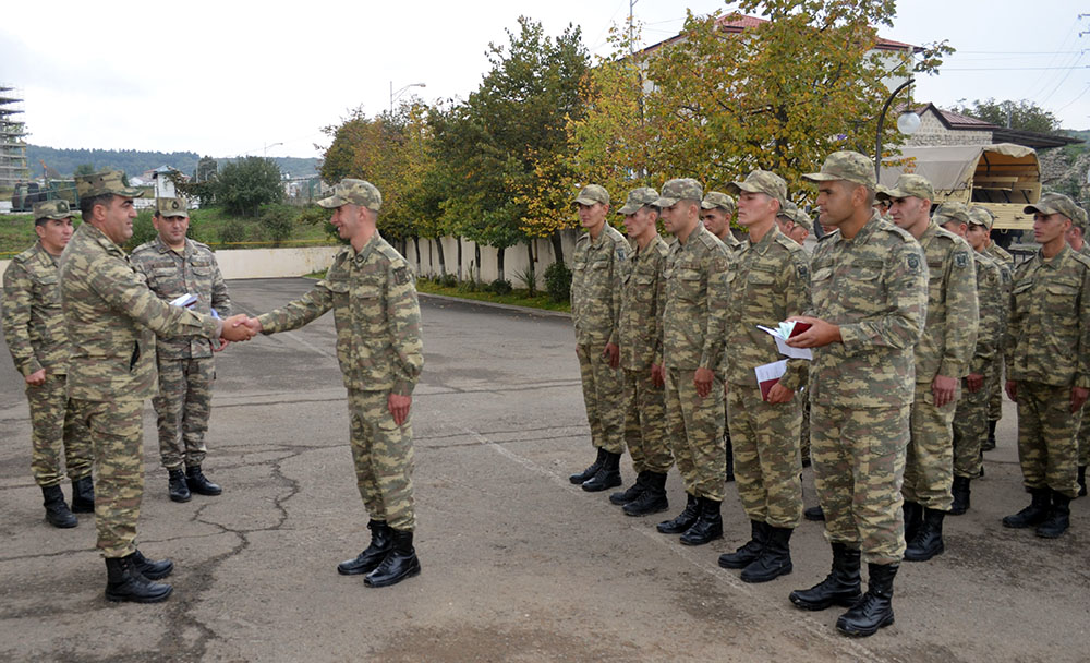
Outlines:
{"label": "pale overcast sky above the trees and rooftops", "polygon": [[[712,0],[639,0],[644,41],[678,33],[685,8]],[[883,37],[949,39],[958,53],[916,99],[1036,100],[1068,129],[1090,128],[1090,3],[1074,0],[900,0]],[[7,3],[0,84],[25,99],[36,145],[320,156],[320,129],[349,109],[389,107],[390,86],[427,103],[462,98],[487,71],[489,41],[507,43],[520,15],[550,35],[582,27],[607,55],[628,0],[477,2],[48,2]],[[1031,8],[1031,9],[1029,9]]]}

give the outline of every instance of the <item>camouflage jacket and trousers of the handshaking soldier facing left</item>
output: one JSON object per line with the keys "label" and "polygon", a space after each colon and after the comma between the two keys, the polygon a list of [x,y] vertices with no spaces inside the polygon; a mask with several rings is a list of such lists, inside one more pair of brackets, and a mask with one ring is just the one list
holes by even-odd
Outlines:
{"label": "camouflage jacket and trousers of the handshaking soldier facing left", "polygon": [[389,394],[409,396],[424,366],[420,303],[409,264],[378,232],[344,246],[310,292],[258,316],[264,334],[302,327],[332,309],[337,361],[349,393],[352,455],[367,513],[415,529],[412,410],[397,426]]}

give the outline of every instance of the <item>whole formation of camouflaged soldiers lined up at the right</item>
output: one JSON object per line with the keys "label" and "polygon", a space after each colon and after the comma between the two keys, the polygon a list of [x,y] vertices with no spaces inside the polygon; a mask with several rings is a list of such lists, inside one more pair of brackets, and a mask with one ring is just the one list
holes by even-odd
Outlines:
{"label": "whole formation of camouflaged soldiers lined up at the right", "polygon": [[[628,448],[637,479],[610,502],[644,516],[668,508],[676,463],[687,502],[657,529],[705,544],[723,535],[729,438],[751,534],[718,562],[765,582],[792,570],[810,447],[833,568],[790,600],[848,607],[837,629],[868,636],[893,623],[901,559],[942,553],[944,517],[969,508],[1004,362],[1033,495],[1004,525],[1067,529],[1085,466],[1075,432],[1090,381],[1090,258],[1066,237],[1086,217],[1059,195],[1028,206],[1042,248],[1012,275],[988,210],[947,203],[932,216],[935,193],[920,176],[880,186],[873,161],[838,152],[803,177],[826,231],[812,256],[802,245],[812,221],[764,170],[728,185],[743,242],[730,232],[734,200],[692,179],[631,191],[619,210],[627,238],[606,222],[605,189],[574,198],[586,233],[571,308],[597,457],[570,480],[588,492],[621,485]],[[758,327],[780,321],[795,323],[786,341]]]}

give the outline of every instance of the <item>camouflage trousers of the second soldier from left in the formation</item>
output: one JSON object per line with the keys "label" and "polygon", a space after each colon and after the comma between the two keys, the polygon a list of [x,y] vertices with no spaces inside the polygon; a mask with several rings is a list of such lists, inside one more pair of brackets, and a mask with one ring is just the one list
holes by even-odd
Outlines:
{"label": "camouflage trousers of the second soldier from left in the formation", "polygon": [[625,370],[625,444],[632,469],[665,474],[674,465],[666,437],[666,391],[651,382],[651,369]]}

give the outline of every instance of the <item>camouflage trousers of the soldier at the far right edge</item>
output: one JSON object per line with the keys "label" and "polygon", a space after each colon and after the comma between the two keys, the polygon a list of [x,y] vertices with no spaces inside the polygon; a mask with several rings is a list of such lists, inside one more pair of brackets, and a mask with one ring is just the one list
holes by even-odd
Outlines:
{"label": "camouflage trousers of the soldier at the far right edge", "polygon": [[1018,383],[1018,462],[1027,489],[1052,489],[1075,498],[1082,411],[1071,414],[1071,388]]}

